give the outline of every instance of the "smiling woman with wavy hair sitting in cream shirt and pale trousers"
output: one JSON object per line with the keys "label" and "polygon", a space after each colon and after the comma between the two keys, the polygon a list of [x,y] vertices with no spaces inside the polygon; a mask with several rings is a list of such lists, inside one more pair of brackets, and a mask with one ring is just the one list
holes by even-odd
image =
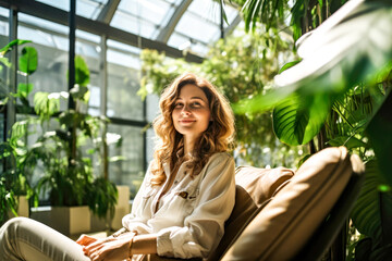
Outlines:
{"label": "smiling woman with wavy hair sitting in cream shirt and pale trousers", "polygon": [[206,258],[234,206],[234,161],[226,153],[233,113],[210,83],[191,73],[163,91],[160,110],[154,161],[123,229],[105,239],[82,235],[75,244],[39,223],[14,219],[0,231],[1,260]]}

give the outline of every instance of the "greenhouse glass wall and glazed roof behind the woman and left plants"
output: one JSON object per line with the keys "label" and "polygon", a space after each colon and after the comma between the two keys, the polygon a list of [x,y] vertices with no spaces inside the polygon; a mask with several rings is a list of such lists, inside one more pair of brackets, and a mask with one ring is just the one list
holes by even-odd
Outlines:
{"label": "greenhouse glass wall and glazed roof behind the woman and left plants", "polygon": [[[30,40],[27,45],[38,52],[38,69],[28,78],[34,85],[28,96],[32,107],[38,91],[69,90],[70,28],[65,20],[70,3],[70,0],[36,0],[28,5],[17,1],[12,5],[17,10],[17,38]],[[4,0],[0,0],[0,4],[11,7]],[[232,7],[226,5],[225,12],[229,24],[238,17]],[[157,96],[149,96],[145,101],[137,96],[140,48],[156,49],[175,58],[184,55],[179,53],[186,50],[188,61],[200,62],[209,46],[223,33],[220,13],[220,4],[213,0],[76,0],[77,27],[83,30],[76,29],[75,54],[84,58],[90,73],[90,99],[83,112],[108,116],[111,137],[121,135],[122,142],[110,146],[109,157],[123,158],[110,163],[109,178],[119,185],[128,185],[132,195],[152,159],[155,134],[148,123],[158,113]],[[1,46],[9,42],[9,15],[10,10],[0,8]],[[0,74],[7,79],[4,70]],[[23,83],[26,78],[19,74],[17,80]],[[5,85],[2,88],[9,92]],[[63,100],[60,110],[68,107],[68,100]],[[34,116],[33,110],[30,114]],[[4,115],[0,119],[3,126]],[[98,161],[93,162],[96,175],[101,175],[102,167]]]}

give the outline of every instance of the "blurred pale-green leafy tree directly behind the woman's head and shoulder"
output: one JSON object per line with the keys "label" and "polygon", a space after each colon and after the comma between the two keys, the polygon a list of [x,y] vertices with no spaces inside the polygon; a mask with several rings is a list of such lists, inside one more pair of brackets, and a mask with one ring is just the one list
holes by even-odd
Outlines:
{"label": "blurred pale-green leafy tree directly behind the woman's head and shoulder", "polygon": [[[293,40],[278,29],[258,28],[245,34],[244,28],[216,42],[201,64],[173,60],[156,50],[142,52],[143,77],[139,95],[159,95],[177,75],[193,72],[213,83],[234,104],[242,99],[265,94],[273,76],[294,59]],[[273,134],[270,112],[235,114],[236,156],[242,163],[257,166],[294,166],[302,147],[291,148]],[[301,153],[301,152],[299,152]],[[271,157],[273,154],[273,157]]]}

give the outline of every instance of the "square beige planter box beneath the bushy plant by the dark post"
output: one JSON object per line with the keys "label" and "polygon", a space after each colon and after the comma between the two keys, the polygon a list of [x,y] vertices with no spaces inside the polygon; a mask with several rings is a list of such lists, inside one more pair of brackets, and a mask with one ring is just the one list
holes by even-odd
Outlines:
{"label": "square beige planter box beneath the bushy plant by the dark post", "polygon": [[90,211],[87,206],[52,207],[52,227],[65,236],[90,232]]}

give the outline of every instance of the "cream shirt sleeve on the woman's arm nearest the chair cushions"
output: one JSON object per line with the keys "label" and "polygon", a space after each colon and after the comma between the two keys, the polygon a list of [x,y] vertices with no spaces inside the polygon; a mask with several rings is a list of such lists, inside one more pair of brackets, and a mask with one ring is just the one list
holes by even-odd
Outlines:
{"label": "cream shirt sleeve on the woman's arm nearest the chair cushions", "polygon": [[228,153],[212,156],[199,184],[195,209],[184,220],[184,226],[161,229],[157,237],[159,256],[174,258],[207,258],[224,233],[235,201],[234,160]]}

